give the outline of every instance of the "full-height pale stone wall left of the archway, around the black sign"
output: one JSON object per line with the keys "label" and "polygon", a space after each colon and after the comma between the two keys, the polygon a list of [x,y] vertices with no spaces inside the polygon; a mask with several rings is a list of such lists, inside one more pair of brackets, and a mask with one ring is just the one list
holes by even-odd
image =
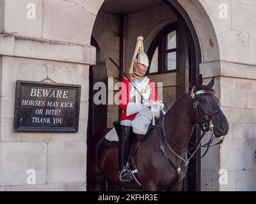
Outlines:
{"label": "full-height pale stone wall left of the archway, around the black sign", "polygon": [[[28,3],[35,4],[36,18],[27,17]],[[88,74],[95,64],[90,38],[98,3],[0,1],[0,191],[86,189]],[[78,133],[13,133],[16,80],[47,76],[81,85]],[[29,169],[36,185],[26,182]]]}

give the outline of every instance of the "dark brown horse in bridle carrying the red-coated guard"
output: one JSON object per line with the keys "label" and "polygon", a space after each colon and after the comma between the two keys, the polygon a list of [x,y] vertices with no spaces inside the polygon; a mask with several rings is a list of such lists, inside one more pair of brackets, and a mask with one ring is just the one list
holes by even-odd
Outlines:
{"label": "dark brown horse in bridle carrying the red-coated guard", "polygon": [[214,96],[212,86],[202,85],[202,75],[196,80],[192,91],[185,94],[164,115],[159,128],[152,129],[141,141],[134,153],[138,169],[136,182],[120,182],[118,179],[118,147],[104,146],[104,136],[109,129],[93,136],[88,156],[88,191],[100,191],[102,179],[108,181],[109,191],[120,191],[122,187],[141,191],[164,191],[173,187],[182,190],[182,179],[188,166],[184,158],[188,143],[196,124],[212,129],[216,137],[228,133],[228,122],[221,112],[219,101]]}

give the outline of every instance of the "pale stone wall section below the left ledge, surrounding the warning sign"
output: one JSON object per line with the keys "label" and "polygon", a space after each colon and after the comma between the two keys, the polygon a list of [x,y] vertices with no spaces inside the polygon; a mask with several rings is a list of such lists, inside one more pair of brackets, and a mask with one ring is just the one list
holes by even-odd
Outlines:
{"label": "pale stone wall section below the left ledge, surrounding the warning sign", "polygon": [[[70,75],[72,73],[72,75]],[[49,76],[55,82],[81,84],[79,132],[13,133],[16,80],[40,81]],[[0,186],[23,189],[27,170],[36,171],[36,185],[58,189],[86,181],[86,126],[88,118],[88,66],[20,57],[1,57]],[[50,186],[48,187],[47,185]],[[12,187],[8,187],[12,186]],[[20,186],[20,187],[19,187]],[[35,186],[40,189],[40,186]],[[24,189],[33,189],[33,186]]]}

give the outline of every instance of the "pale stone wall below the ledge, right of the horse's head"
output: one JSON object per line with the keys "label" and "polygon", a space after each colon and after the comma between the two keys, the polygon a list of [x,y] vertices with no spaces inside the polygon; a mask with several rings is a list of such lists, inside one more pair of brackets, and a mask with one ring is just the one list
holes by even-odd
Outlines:
{"label": "pale stone wall below the ledge, right of the horse's head", "polygon": [[[251,75],[255,75],[256,67],[251,68]],[[255,191],[256,80],[221,77],[220,81],[221,87],[226,87],[221,91],[221,106],[230,124],[220,149],[220,169],[228,170],[228,185],[221,185],[220,190]]]}

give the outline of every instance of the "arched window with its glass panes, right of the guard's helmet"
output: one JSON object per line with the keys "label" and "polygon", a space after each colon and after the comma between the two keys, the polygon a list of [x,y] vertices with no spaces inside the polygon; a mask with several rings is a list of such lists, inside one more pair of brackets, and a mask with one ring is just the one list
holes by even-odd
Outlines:
{"label": "arched window with its glass panes, right of the guard's helmet", "polygon": [[165,73],[177,69],[176,23],[169,24],[157,34],[148,49],[149,74]]}

